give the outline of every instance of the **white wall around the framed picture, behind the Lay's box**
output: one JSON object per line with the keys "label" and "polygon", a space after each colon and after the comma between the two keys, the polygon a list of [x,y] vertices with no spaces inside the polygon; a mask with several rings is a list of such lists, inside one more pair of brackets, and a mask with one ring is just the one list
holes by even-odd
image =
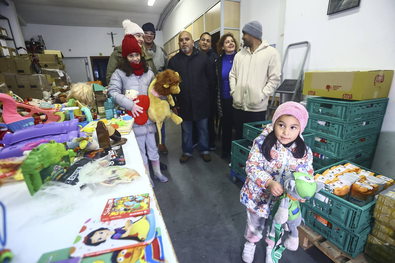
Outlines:
{"label": "white wall around the framed picture, behind the Lay's box", "polygon": [[[361,1],[359,7],[333,15],[327,15],[327,9],[328,1],[286,1],[284,49],[290,43],[310,41],[305,71],[395,69],[395,1]],[[293,60],[288,71],[298,65],[299,59]],[[395,80],[372,166],[393,178],[394,138]]]}

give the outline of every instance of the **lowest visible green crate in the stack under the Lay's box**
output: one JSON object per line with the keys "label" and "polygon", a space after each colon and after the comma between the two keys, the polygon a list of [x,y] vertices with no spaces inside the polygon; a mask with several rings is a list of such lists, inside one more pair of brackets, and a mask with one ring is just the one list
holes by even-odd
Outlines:
{"label": "lowest visible green crate in the stack under the Lay's box", "polygon": [[319,167],[325,167],[328,165],[332,165],[335,162],[338,162],[339,160],[346,160],[347,162],[354,162],[357,165],[363,165],[366,162],[371,162],[371,160],[373,160],[374,153],[376,152],[376,147],[361,151],[359,153],[353,153],[351,155],[348,155],[346,157],[341,157],[341,158],[335,157],[325,151],[321,151],[318,149],[314,149],[314,152],[322,154],[326,158],[326,159],[320,159],[318,157],[313,156],[313,164],[315,164],[316,166],[319,166]]}

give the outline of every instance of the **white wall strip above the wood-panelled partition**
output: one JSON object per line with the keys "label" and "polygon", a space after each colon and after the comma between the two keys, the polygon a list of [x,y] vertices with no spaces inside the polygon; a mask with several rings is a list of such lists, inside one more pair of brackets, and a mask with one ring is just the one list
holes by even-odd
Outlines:
{"label": "white wall strip above the wood-panelled partition", "polygon": [[218,2],[219,0],[181,0],[171,11],[163,25],[164,43],[198,18],[207,8]]}

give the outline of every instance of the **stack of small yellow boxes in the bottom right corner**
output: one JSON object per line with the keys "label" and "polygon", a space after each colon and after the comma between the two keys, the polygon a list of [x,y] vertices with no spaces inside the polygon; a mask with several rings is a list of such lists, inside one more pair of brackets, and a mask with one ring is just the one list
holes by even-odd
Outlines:
{"label": "stack of small yellow boxes in the bottom right corner", "polygon": [[368,236],[365,254],[379,262],[395,258],[395,185],[382,191],[377,198],[373,217],[376,218]]}

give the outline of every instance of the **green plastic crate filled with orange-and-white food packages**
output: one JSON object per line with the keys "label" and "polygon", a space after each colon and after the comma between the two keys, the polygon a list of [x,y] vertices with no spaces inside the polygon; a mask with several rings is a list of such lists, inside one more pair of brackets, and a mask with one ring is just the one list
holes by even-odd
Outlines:
{"label": "green plastic crate filled with orange-and-white food packages", "polygon": [[[332,166],[343,165],[347,162],[349,161],[341,160],[340,162],[336,162],[326,166],[325,168],[316,170],[314,173],[322,174],[325,172],[325,170],[330,169]],[[353,162],[350,163],[357,165],[364,170],[374,172],[366,166],[360,166]],[[376,172],[374,173],[376,175],[380,174]],[[369,225],[373,215],[374,206],[376,205],[376,200],[363,207],[359,207],[354,203],[350,203],[349,201],[326,192],[323,189],[320,190],[319,194],[321,195],[320,198],[317,198],[314,195],[312,198],[306,200],[305,204],[308,205],[310,209],[324,213],[327,219],[339,222],[341,226],[347,228],[348,231],[353,233],[359,233],[363,231],[367,225]],[[324,198],[325,200],[323,201]]]}

